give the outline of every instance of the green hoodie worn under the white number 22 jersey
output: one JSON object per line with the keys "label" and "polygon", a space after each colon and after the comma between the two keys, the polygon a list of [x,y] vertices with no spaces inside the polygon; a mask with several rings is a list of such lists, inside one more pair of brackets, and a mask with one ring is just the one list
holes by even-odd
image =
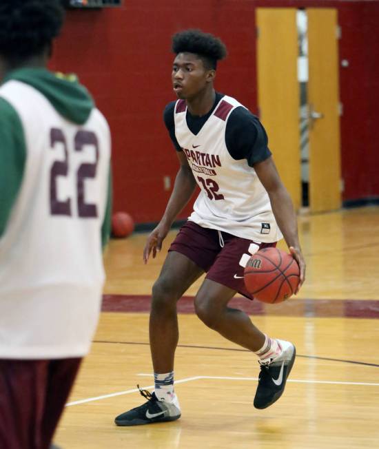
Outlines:
{"label": "green hoodie worn under the white number 22 jersey", "polygon": [[[9,72],[3,83],[21,81],[31,85],[50,101],[54,109],[68,121],[83,125],[88,121],[94,101],[76,76],[53,73],[44,68],[21,68]],[[12,105],[0,96],[0,237],[23,178],[26,147],[21,120]],[[103,245],[110,235],[111,174],[108,189],[107,213],[102,229]]]}

